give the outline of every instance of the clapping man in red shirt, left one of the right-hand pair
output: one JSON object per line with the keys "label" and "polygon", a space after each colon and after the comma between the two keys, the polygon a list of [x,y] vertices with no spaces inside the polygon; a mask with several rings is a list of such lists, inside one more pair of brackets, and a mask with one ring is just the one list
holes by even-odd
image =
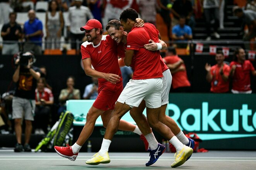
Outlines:
{"label": "clapping man in red shirt, left one of the right-hand pair", "polygon": [[205,64],[207,71],[206,80],[211,83],[212,93],[227,93],[229,92],[229,65],[224,63],[224,53],[218,50],[215,55],[217,64],[211,67],[210,64]]}

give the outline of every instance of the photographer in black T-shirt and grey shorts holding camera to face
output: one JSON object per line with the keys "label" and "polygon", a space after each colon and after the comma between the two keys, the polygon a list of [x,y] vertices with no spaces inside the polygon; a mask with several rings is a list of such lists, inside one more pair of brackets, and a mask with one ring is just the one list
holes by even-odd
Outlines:
{"label": "photographer in black T-shirt and grey shorts holding camera to face", "polygon": [[31,152],[29,140],[32,131],[32,121],[34,121],[35,89],[36,82],[40,78],[40,70],[32,64],[36,61],[31,52],[19,53],[15,58],[17,68],[12,80],[16,83],[15,93],[12,100],[12,118],[14,119],[15,135],[17,144],[14,152],[22,152],[22,117],[25,119],[25,143],[24,151]]}

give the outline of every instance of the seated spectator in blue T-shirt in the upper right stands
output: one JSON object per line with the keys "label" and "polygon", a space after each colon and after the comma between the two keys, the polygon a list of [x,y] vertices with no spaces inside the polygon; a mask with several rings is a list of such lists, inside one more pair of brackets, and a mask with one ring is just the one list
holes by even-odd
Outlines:
{"label": "seated spectator in blue T-shirt in the upper right stands", "polygon": [[[185,25],[186,23],[186,17],[180,16],[179,17],[179,24],[175,25],[172,28],[172,40],[174,41],[188,41],[192,40],[192,29]],[[186,48],[187,44],[184,43],[178,43],[174,47],[178,48]]]}

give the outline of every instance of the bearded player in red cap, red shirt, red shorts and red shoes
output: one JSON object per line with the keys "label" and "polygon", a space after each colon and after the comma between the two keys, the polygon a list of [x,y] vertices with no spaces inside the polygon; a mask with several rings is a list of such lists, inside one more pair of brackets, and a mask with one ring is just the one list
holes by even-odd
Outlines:
{"label": "bearded player in red cap, red shirt, red shorts and red shoes", "polygon": [[[142,20],[140,19],[140,21]],[[139,22],[138,25],[140,24]],[[87,37],[87,41],[81,45],[84,71],[86,75],[98,78],[99,95],[87,113],[86,123],[77,142],[68,147],[54,147],[59,155],[72,161],[77,158],[80,148],[92,134],[99,116],[101,116],[103,126],[107,127],[116,100],[123,90],[121,71],[118,65],[118,44],[109,35],[102,35],[102,25],[96,19],[90,19],[80,30],[85,31]],[[135,125],[124,120],[120,120],[118,124],[119,130],[134,132],[137,129],[135,133],[142,134]]]}

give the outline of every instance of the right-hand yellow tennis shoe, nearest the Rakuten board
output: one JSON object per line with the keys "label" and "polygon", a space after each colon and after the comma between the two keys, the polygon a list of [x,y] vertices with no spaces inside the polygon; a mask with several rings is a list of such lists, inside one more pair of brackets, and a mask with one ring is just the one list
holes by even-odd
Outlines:
{"label": "right-hand yellow tennis shoe, nearest the Rakuten board", "polygon": [[190,157],[193,153],[193,149],[184,145],[183,148],[177,151],[174,155],[175,160],[172,163],[171,167],[176,168],[181,166],[183,163],[186,162],[187,158]]}

